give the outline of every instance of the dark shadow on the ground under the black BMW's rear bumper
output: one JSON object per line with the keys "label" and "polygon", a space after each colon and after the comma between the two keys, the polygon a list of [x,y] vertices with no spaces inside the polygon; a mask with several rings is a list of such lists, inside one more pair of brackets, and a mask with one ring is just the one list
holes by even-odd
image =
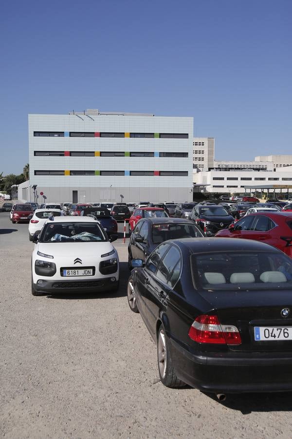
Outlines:
{"label": "dark shadow on the ground under the black BMW's rear bumper", "polygon": [[249,415],[252,412],[292,411],[292,392],[226,394],[225,401],[221,402],[215,394],[205,393],[205,395],[243,415]]}

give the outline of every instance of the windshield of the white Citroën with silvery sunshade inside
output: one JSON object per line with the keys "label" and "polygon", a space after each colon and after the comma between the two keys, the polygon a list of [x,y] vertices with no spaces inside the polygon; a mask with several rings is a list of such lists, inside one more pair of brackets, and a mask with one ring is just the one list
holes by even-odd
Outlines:
{"label": "windshield of the white Citro\u00ebn with silvery sunshade inside", "polygon": [[96,242],[106,241],[95,222],[49,222],[45,224],[39,242]]}

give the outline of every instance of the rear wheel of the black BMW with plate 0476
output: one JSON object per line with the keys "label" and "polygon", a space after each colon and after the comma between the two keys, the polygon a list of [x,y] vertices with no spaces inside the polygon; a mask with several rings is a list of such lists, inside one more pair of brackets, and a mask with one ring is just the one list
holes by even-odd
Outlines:
{"label": "rear wheel of the black BMW with plate 0476", "polygon": [[157,361],[161,382],[166,387],[182,387],[184,382],[178,379],[170,356],[169,341],[164,326],[161,325],[157,340]]}

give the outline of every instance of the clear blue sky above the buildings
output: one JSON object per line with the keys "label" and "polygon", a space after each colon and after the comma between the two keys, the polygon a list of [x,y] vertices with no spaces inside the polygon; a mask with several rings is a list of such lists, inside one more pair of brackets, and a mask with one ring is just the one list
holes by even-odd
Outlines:
{"label": "clear blue sky above the buildings", "polygon": [[0,172],[28,113],[193,116],[217,160],[292,153],[291,0],[11,0],[0,14]]}

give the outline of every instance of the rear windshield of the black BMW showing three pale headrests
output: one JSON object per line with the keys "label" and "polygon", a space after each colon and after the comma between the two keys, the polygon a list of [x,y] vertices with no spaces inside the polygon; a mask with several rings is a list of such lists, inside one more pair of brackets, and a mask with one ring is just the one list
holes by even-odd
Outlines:
{"label": "rear windshield of the black BMW showing three pale headrests", "polygon": [[292,288],[292,259],[273,252],[218,252],[192,255],[196,289],[208,292]]}

